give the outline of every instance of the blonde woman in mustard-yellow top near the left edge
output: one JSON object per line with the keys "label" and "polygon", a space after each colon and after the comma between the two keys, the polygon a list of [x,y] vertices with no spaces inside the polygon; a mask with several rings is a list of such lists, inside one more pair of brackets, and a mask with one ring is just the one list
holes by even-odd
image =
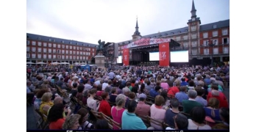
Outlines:
{"label": "blonde woman in mustard-yellow top near the left edge", "polygon": [[[39,106],[39,111],[46,116],[51,106],[54,105],[54,103],[51,101],[51,97],[52,97],[51,92],[45,92],[41,98],[42,101]],[[43,120],[46,120],[46,117],[44,117]]]}

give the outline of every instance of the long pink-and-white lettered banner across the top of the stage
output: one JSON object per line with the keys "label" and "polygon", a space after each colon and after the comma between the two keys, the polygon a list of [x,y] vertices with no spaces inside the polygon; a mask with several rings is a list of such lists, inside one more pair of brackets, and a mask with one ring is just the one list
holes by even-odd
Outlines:
{"label": "long pink-and-white lettered banner across the top of the stage", "polygon": [[124,45],[123,48],[133,48],[138,47],[142,45],[154,45],[157,43],[168,43],[171,42],[171,38],[141,38],[140,40],[137,40],[133,43],[129,43],[128,45]]}

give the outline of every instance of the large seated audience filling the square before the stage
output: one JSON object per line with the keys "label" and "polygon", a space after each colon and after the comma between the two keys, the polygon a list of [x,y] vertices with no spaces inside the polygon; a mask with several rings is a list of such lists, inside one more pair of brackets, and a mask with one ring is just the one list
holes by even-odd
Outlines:
{"label": "large seated audience filling the square before the stage", "polygon": [[[115,66],[106,69],[27,73],[26,95],[49,129],[109,129],[99,111],[121,124],[123,130],[230,129],[230,109],[224,90],[230,81],[229,65],[221,67]],[[52,87],[55,84],[88,109],[71,111]],[[100,100],[97,100],[99,99]],[[149,98],[153,98],[149,100]],[[111,104],[114,104],[110,106]],[[168,127],[142,117],[165,122]],[[113,129],[118,129],[113,126]]]}

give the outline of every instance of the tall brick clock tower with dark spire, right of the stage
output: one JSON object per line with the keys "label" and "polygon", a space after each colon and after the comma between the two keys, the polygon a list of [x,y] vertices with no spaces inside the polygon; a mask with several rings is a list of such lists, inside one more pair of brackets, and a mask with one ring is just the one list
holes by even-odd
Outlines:
{"label": "tall brick clock tower with dark spire, right of the stage", "polygon": [[196,8],[192,1],[191,19],[188,20],[188,44],[189,44],[189,58],[196,57],[199,54],[199,29],[200,18],[196,18]]}

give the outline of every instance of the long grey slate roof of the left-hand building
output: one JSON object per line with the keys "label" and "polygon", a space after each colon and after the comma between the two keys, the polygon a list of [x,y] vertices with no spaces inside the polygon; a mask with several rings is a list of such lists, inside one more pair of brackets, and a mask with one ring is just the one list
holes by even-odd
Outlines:
{"label": "long grey slate roof of the left-hand building", "polygon": [[[89,47],[96,47],[98,44],[93,44],[93,43],[85,43],[85,42],[80,42],[76,40],[66,40],[62,38],[57,38],[57,37],[49,37],[49,36],[43,36],[40,34],[30,34],[26,33],[26,39],[30,40],[42,40],[42,41],[48,41],[51,43],[63,43],[64,44],[69,44],[69,45],[83,45],[83,46],[89,46]],[[49,41],[51,39],[51,41]]]}

